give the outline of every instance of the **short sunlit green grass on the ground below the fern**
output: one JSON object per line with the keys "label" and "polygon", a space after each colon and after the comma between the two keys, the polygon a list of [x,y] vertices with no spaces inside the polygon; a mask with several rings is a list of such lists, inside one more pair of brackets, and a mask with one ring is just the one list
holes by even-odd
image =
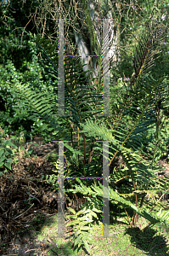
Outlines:
{"label": "short sunlit green grass on the ground below the fern", "polygon": [[[38,219],[38,218],[37,218]],[[108,239],[98,238],[102,236],[102,223],[94,224],[92,226],[91,234],[93,235],[93,243],[90,245],[91,255],[152,255],[165,256],[169,255],[169,227],[161,224],[147,229],[145,232],[140,232],[134,228],[129,228],[127,219],[124,218],[123,224],[116,222],[110,224],[110,237]],[[148,224],[144,218],[139,218],[138,225],[140,229]],[[38,228],[37,228],[38,227]],[[48,255],[70,255],[70,256],[84,256],[87,252],[84,248],[80,251],[73,251],[73,242],[68,239],[61,239],[58,236],[58,216],[57,214],[39,219],[36,224],[33,224],[31,229],[35,229],[37,241],[53,241],[54,248],[48,252]],[[71,233],[71,232],[70,232]],[[67,232],[65,236],[69,236]],[[52,243],[51,243],[52,244]]]}

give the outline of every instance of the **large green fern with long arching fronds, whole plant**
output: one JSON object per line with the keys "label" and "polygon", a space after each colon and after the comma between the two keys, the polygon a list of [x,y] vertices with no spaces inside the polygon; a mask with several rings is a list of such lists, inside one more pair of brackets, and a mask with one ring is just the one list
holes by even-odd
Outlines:
{"label": "large green fern with long arching fronds, whole plant", "polygon": [[[165,78],[155,80],[147,73],[162,38],[163,28],[159,24],[147,26],[145,34],[138,40],[138,48],[134,53],[135,73],[129,81],[123,101],[120,102],[117,99],[118,111],[111,108],[111,117],[98,115],[102,113],[102,96],[99,90],[93,90],[92,85],[85,84],[87,79],[82,73],[82,64],[74,58],[67,58],[65,64],[66,118],[57,116],[57,94],[51,98],[41,91],[35,93],[31,90],[29,83],[8,83],[14,94],[20,95],[25,105],[32,108],[34,119],[40,117],[53,127],[57,140],[70,141],[70,144],[65,143],[65,162],[70,176],[77,173],[81,176],[101,176],[102,147],[98,140],[110,142],[110,166],[115,156],[121,154],[126,169],[118,177],[113,175],[113,182],[117,185],[120,180],[126,179],[128,182],[132,181],[132,186],[126,193],[121,193],[124,191],[110,184],[110,201],[121,203],[125,209],[132,209],[132,223],[135,226],[138,214],[149,219],[151,224],[160,221],[168,223],[168,212],[163,212],[161,209],[160,212],[153,213],[143,206],[149,184],[157,183],[156,172],[161,170],[161,166],[156,166],[159,159],[159,144],[166,136],[166,133],[161,136],[161,129],[168,131],[165,118],[161,115],[168,104]],[[34,36],[34,40],[42,53],[42,61],[48,73],[53,79],[58,80],[57,41],[51,44],[49,40],[39,35]],[[55,91],[57,89],[55,88]],[[103,196],[103,187],[100,184],[98,186],[96,182],[91,187],[93,190],[87,186],[82,187],[83,185],[76,187],[76,191],[82,195],[87,193],[92,195],[93,201],[89,200],[88,206],[93,204],[96,206],[97,195],[99,201]],[[87,185],[93,184],[90,181]],[[97,209],[97,207],[94,208]],[[87,214],[91,219],[96,218],[93,212],[95,211],[92,207],[86,207],[80,213],[73,212],[74,217],[71,217],[76,219],[76,222],[72,223],[76,231],[75,244],[83,243],[87,249],[87,239],[84,237],[87,237],[85,230],[89,229],[88,223],[83,220],[88,218]]]}

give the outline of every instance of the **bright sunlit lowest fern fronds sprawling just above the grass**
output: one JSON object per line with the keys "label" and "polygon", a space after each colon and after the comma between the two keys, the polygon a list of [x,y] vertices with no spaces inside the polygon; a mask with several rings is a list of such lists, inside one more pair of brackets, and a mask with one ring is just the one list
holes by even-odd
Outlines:
{"label": "bright sunlit lowest fern fronds sprawling just above the grass", "polygon": [[[102,212],[103,185],[99,183],[99,186],[92,185],[89,187],[82,183],[82,181],[79,179],[77,179],[77,182],[80,184],[75,185],[75,189],[68,189],[68,191],[81,193],[82,195],[85,195],[88,201],[87,205],[85,205],[79,212],[75,212],[74,209],[69,208],[72,215],[68,216],[68,218],[73,218],[75,220],[66,226],[74,226],[73,230],[75,233],[73,234],[72,239],[74,241],[75,249],[77,248],[78,251],[80,246],[83,244],[85,245],[87,252],[90,253],[89,243],[91,243],[91,227],[88,226],[88,224],[93,222],[93,218],[99,218],[99,212]],[[143,192],[145,191],[136,191],[136,193]],[[148,193],[148,191],[146,192]],[[92,198],[89,195],[92,196]],[[140,216],[148,219],[149,224],[144,228],[144,230],[146,230],[150,225],[160,223],[169,224],[169,211],[165,211],[163,208],[160,208],[156,212],[150,212],[146,207],[136,207],[131,201],[125,198],[125,195],[120,195],[119,193],[115,192],[114,189],[110,189],[110,203],[119,203],[125,208],[125,210],[127,208],[132,209]],[[129,224],[131,224],[128,214],[127,217]],[[86,234],[86,232],[88,232],[88,234]],[[76,246],[77,244],[78,247]]]}

